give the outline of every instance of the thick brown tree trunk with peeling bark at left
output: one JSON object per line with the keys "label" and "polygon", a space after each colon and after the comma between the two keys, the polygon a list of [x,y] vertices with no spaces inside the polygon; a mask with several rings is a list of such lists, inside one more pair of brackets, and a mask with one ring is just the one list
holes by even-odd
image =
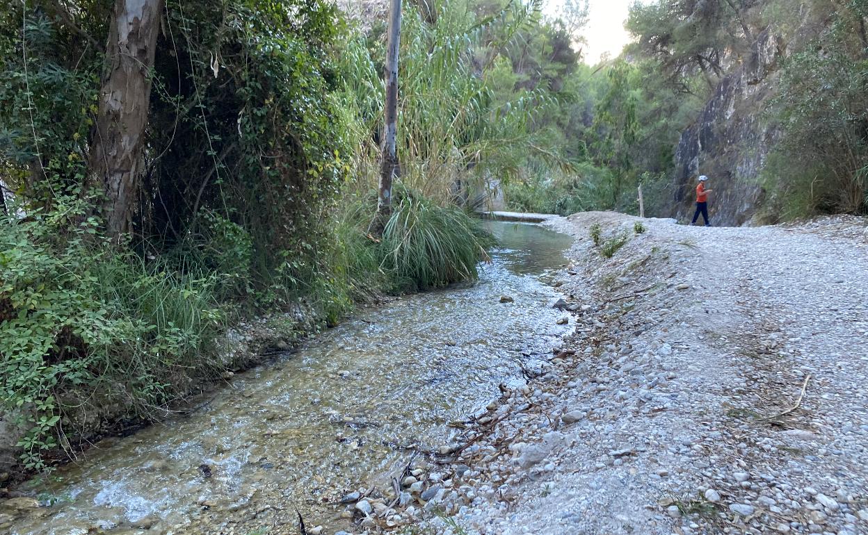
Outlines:
{"label": "thick brown tree trunk with peeling bark at left", "polygon": [[132,230],[163,0],[115,0],[107,69],[90,148],[91,178],[106,194],[109,236]]}

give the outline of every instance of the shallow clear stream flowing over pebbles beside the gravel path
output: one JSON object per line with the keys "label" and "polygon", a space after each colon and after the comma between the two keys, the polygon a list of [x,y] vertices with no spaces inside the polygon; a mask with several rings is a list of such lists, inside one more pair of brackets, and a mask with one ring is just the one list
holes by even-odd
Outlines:
{"label": "shallow clear stream flowing over pebbles beside the gravel path", "polygon": [[17,517],[15,535],[250,533],[290,521],[295,508],[309,524],[338,525],[336,497],[387,486],[406,447],[448,443],[447,422],[484,408],[498,383],[523,381],[518,362],[533,366],[571,329],[556,324],[547,284],[570,239],[489,225],[502,247],[476,284],[360,312],[236,375],[192,414],[103,440],[24,486],[43,506],[0,512],[0,532],[3,513]]}

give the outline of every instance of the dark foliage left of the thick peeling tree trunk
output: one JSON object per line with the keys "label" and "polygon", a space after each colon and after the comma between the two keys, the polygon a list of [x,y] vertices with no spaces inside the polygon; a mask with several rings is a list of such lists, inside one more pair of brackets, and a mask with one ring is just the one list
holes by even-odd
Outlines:
{"label": "dark foliage left of the thick peeling tree trunk", "polygon": [[56,6],[30,5],[0,7],[0,177],[29,206],[51,206],[87,174],[102,58],[57,27]]}

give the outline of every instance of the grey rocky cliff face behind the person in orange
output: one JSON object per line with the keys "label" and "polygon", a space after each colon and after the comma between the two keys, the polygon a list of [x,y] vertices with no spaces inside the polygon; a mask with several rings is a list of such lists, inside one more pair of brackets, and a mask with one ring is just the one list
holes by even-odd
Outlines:
{"label": "grey rocky cliff face behind the person in orange", "polygon": [[778,131],[764,110],[774,96],[783,39],[766,29],[751,54],[720,81],[696,122],[681,134],[675,150],[673,216],[691,218],[700,174],[709,177],[713,225],[745,225],[762,203],[757,177]]}

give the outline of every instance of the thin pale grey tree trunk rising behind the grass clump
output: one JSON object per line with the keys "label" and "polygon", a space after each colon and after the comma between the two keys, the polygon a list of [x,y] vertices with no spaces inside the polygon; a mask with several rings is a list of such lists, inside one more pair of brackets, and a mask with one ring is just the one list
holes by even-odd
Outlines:
{"label": "thin pale grey tree trunk rising behind the grass clump", "polygon": [[380,160],[377,217],[374,230],[383,232],[385,222],[391,215],[391,179],[398,169],[398,153],[395,147],[398,131],[398,45],[401,40],[401,0],[389,3],[389,41],[385,56],[385,125]]}

